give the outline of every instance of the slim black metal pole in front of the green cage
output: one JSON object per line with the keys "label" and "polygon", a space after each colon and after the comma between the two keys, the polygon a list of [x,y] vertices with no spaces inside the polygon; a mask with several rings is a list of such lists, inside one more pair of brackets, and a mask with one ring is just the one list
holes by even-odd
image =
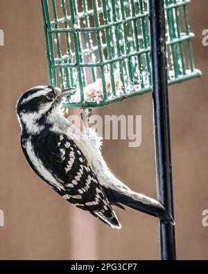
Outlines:
{"label": "slim black metal pole in front of the green cage", "polygon": [[[174,218],[164,0],[149,0],[149,10],[157,195],[159,201]],[[161,259],[176,259],[174,226],[160,221],[159,232]]]}

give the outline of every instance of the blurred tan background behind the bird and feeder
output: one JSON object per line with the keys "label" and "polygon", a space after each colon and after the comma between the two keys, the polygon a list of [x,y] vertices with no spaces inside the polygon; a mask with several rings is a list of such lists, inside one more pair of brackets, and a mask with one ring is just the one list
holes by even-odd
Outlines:
{"label": "blurred tan background behind the bird and feeder", "polygon": [[[208,1],[191,1],[189,19],[196,33],[193,49],[202,78],[170,88],[171,143],[177,259],[208,259]],[[159,259],[158,223],[132,209],[116,209],[122,230],[112,230],[60,198],[24,159],[15,114],[18,97],[47,84],[40,1],[0,0],[1,184],[0,259]],[[156,198],[151,94],[98,110],[101,114],[141,114],[142,144],[105,141],[103,155],[114,174],[130,187]]]}

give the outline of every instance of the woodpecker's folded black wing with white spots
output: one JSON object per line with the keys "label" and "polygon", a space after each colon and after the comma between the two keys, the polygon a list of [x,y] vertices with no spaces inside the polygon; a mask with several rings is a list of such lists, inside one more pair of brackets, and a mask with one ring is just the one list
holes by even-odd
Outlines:
{"label": "woodpecker's folded black wing with white spots", "polygon": [[[47,172],[38,171],[37,164],[31,163],[31,157],[26,155],[28,162],[42,179],[76,207],[89,211],[114,228],[121,228],[105,191],[73,140],[67,135],[46,130],[41,135],[32,136],[30,142],[33,144],[31,148],[35,157],[53,178],[47,178]],[[28,154],[25,145],[22,147],[24,153]]]}

